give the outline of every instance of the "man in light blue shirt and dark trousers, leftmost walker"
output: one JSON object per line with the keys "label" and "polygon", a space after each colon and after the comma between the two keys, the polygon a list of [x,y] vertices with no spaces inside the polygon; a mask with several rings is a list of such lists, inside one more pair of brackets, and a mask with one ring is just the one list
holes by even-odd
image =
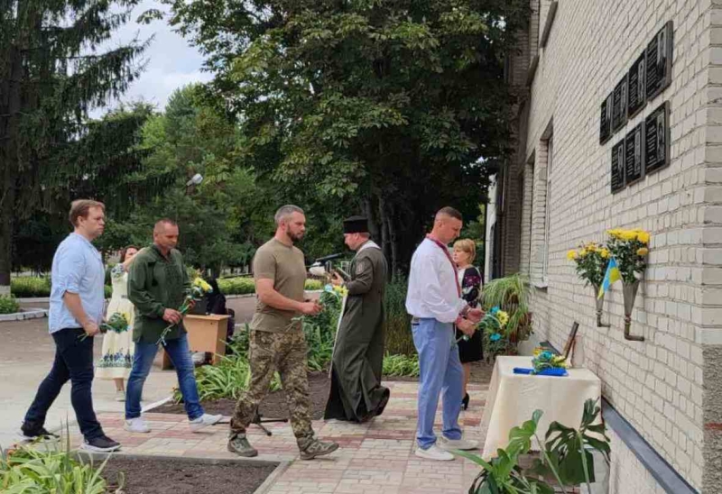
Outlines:
{"label": "man in light blue shirt and dark trousers, leftmost walker", "polygon": [[[70,223],[75,230],[60,242],[52,258],[49,325],[55,340],[55,361],[25,415],[21,428],[26,439],[57,437],[45,430],[45,416],[60,389],[70,380],[70,399],[85,437],[83,449],[113,452],[120,449],[103,433],[93,409],[93,336],[99,332],[105,304],[105,269],[91,241],[103,233],[105,206],[90,200],[73,201]],[[80,339],[86,334],[88,337]]]}

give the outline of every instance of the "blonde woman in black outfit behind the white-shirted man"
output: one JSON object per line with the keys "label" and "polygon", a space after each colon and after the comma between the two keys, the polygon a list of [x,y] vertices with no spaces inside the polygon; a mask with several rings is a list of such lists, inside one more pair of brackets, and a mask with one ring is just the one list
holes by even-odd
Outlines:
{"label": "blonde woman in black outfit behind the white-shirted man", "polygon": [[[481,273],[471,265],[476,256],[477,246],[473,241],[464,239],[454,243],[454,262],[457,264],[461,297],[472,307],[478,306],[482,288]],[[457,329],[457,339],[461,336],[463,336],[463,334]],[[462,405],[466,410],[469,400],[467,384],[471,376],[471,362],[480,361],[483,358],[480,331],[475,332],[468,341],[461,340],[458,342],[458,357],[461,361],[461,366],[464,368],[464,399],[462,400]]]}

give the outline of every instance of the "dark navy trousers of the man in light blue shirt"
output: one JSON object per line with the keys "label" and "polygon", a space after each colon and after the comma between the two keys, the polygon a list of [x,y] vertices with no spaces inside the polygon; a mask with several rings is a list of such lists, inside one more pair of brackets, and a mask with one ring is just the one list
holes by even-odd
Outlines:
{"label": "dark navy trousers of the man in light blue shirt", "polygon": [[32,405],[25,414],[25,422],[45,425],[52,402],[60,389],[70,381],[70,402],[78,418],[82,435],[89,440],[103,435],[103,429],[93,410],[93,338],[80,341],[85,334],[80,328],[65,328],[51,334],[55,340],[55,360],[48,376],[42,380]]}

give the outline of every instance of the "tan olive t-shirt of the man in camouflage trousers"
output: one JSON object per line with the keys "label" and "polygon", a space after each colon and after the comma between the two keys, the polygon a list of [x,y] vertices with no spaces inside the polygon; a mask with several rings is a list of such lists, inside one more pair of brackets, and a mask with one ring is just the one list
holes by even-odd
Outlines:
{"label": "tan olive t-shirt of the man in camouflage trousers", "polygon": [[[254,279],[273,279],[273,289],[283,297],[303,301],[303,288],[306,283],[306,265],[303,252],[289,247],[276,239],[265,242],[255,252]],[[301,324],[292,319],[300,316],[292,310],[281,310],[264,304],[257,298],[251,329],[269,333],[288,333],[300,331]]]}

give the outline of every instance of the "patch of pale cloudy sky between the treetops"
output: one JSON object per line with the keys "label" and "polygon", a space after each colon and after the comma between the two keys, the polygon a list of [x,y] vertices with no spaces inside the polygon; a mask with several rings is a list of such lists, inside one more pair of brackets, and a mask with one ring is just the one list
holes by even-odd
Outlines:
{"label": "patch of pale cloudy sky between the treetops", "polygon": [[[160,5],[152,0],[143,0],[135,7],[131,21],[116,32],[110,46],[131,41],[136,35],[141,41],[155,35],[150,48],[145,51],[148,62],[146,69],[125,93],[122,101],[143,100],[162,110],[175,89],[191,82],[206,82],[211,76],[200,70],[203,58],[199,51],[190,46],[180,34],[173,32],[168,23],[153,21],[150,25],[144,25],[135,22],[138,15],[149,8],[160,8]],[[94,110],[91,116],[97,118],[118,104],[117,101],[108,103],[105,108]]]}

